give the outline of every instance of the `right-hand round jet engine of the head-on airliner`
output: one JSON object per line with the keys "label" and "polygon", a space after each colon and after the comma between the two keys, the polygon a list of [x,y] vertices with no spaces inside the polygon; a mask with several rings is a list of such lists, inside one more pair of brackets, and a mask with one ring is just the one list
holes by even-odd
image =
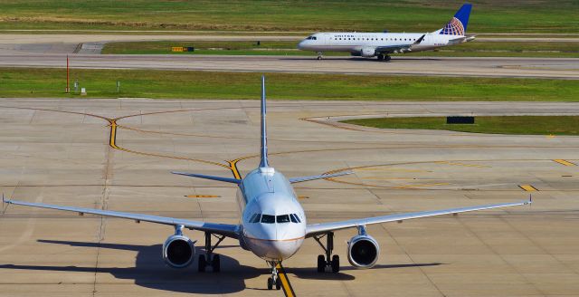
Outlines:
{"label": "right-hand round jet engine of the head-on airliner", "polygon": [[379,254],[380,246],[370,235],[356,235],[347,243],[347,261],[356,268],[372,268]]}

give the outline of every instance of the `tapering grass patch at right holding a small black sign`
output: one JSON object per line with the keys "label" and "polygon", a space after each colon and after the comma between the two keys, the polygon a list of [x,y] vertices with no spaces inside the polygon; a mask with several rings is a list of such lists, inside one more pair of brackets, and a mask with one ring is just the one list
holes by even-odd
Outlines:
{"label": "tapering grass patch at right holding a small black sign", "polygon": [[474,125],[447,125],[446,118],[382,118],[345,120],[382,129],[443,129],[460,132],[521,135],[579,135],[577,116],[477,117]]}

